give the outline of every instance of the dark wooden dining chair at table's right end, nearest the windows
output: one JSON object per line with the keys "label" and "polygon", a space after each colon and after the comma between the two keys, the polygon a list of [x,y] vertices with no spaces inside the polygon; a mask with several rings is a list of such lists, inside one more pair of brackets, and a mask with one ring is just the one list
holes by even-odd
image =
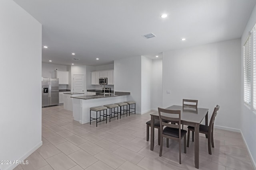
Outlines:
{"label": "dark wooden dining chair at table's right end, nearest the windows", "polygon": [[[200,133],[204,133],[206,135],[208,135],[208,152],[209,154],[212,154],[212,147],[214,148],[214,142],[213,142],[213,125],[214,125],[214,121],[215,121],[215,117],[217,115],[217,111],[220,109],[220,106],[217,105],[214,108],[214,111],[212,113],[212,117],[210,120],[210,124],[208,125],[200,125],[199,126],[199,132]],[[190,138],[190,131],[192,131],[192,141],[194,142],[194,127],[188,126],[188,143],[187,143],[187,147],[189,147],[189,138]]]}

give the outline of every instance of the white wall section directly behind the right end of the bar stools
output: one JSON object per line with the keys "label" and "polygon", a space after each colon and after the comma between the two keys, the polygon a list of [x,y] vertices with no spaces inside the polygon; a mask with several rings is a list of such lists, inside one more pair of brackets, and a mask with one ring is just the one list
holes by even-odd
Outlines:
{"label": "white wall section directly behind the right end of the bar stools", "polygon": [[141,112],[141,57],[114,61],[114,87],[116,92],[130,92],[128,100],[136,102],[136,113]]}

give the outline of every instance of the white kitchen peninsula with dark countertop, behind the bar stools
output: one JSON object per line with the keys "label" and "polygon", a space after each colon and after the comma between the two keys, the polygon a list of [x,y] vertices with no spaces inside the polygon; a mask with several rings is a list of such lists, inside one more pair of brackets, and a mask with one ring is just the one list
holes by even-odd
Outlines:
{"label": "white kitchen peninsula with dark countertop, behind the bar stools", "polygon": [[[103,106],[127,101],[130,92],[115,92],[110,95],[72,96],[73,117],[75,121],[84,124],[90,122],[90,107]],[[92,111],[92,116],[94,116]]]}

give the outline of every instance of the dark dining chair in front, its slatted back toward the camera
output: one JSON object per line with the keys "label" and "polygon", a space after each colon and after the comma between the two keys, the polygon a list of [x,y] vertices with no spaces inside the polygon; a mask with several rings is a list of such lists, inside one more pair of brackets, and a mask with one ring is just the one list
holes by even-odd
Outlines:
{"label": "dark dining chair in front, its slatted back toward the camera", "polygon": [[[158,107],[159,122],[160,122],[160,152],[162,156],[163,138],[166,138],[166,147],[169,147],[169,139],[179,141],[180,164],[181,164],[181,139],[184,138],[184,153],[186,153],[186,133],[187,131],[180,128],[180,110],[169,110]],[[177,124],[166,123],[177,122]],[[165,128],[164,128],[165,126]]]}

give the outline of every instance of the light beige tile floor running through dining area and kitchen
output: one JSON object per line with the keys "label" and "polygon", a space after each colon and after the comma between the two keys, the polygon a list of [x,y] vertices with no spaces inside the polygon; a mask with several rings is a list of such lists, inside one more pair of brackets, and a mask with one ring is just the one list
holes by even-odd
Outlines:
{"label": "light beige tile floor running through dining area and kitchen", "polygon": [[[182,164],[177,141],[170,140],[169,148],[164,143],[159,157],[157,129],[154,151],[150,150],[146,121],[153,112],[114,118],[96,127],[74,121],[63,106],[43,108],[43,145],[26,159],[29,164],[15,170],[196,170],[191,139],[186,154],[182,147]],[[214,129],[214,145],[208,154],[207,139],[200,134],[200,170],[254,170],[240,133]]]}

